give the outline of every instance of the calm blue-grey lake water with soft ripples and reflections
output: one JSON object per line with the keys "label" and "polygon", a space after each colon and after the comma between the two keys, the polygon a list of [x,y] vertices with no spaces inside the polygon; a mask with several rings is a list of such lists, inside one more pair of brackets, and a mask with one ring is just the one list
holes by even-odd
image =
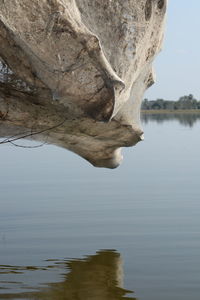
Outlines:
{"label": "calm blue-grey lake water with soft ripples and reflections", "polygon": [[199,300],[200,118],[143,127],[114,170],[1,145],[0,299]]}

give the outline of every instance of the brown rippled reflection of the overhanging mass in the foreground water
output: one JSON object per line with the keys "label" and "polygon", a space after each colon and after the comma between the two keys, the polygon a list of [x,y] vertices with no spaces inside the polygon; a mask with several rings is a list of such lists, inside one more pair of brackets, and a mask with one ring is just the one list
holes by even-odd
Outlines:
{"label": "brown rippled reflection of the overhanging mass in the foreground water", "polygon": [[[38,292],[24,292],[16,294],[0,294],[0,299],[52,299],[52,300],[136,300],[126,297],[132,293],[122,288],[123,272],[120,254],[115,251],[99,251],[85,259],[55,262],[55,267],[67,269],[63,274],[63,281],[49,283],[46,288]],[[17,273],[27,270],[50,270],[54,266],[45,268],[0,266],[0,274],[8,272],[15,278]]]}

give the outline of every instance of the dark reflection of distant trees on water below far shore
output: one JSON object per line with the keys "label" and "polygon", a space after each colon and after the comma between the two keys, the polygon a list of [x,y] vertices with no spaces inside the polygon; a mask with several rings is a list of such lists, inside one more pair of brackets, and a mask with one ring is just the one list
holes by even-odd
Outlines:
{"label": "dark reflection of distant trees on water below far shore", "polygon": [[157,123],[163,123],[166,121],[177,120],[183,126],[193,127],[193,125],[200,120],[200,114],[196,113],[152,113],[141,114],[141,120],[144,124],[150,121],[156,121]]}

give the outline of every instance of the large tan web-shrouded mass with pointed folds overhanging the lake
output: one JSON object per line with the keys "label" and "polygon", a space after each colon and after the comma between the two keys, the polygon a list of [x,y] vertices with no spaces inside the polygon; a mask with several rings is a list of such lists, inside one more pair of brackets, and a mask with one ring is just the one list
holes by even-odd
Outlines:
{"label": "large tan web-shrouded mass with pointed folds overhanging the lake", "polygon": [[141,140],[165,11],[166,0],[0,0],[1,143],[48,136],[116,167],[118,148]]}

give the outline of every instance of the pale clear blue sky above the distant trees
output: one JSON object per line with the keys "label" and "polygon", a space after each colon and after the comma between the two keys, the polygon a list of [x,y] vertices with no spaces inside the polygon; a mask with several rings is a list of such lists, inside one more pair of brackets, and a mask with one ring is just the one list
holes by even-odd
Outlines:
{"label": "pale clear blue sky above the distant trees", "polygon": [[200,1],[169,0],[165,40],[154,61],[156,83],[145,98],[200,100]]}

